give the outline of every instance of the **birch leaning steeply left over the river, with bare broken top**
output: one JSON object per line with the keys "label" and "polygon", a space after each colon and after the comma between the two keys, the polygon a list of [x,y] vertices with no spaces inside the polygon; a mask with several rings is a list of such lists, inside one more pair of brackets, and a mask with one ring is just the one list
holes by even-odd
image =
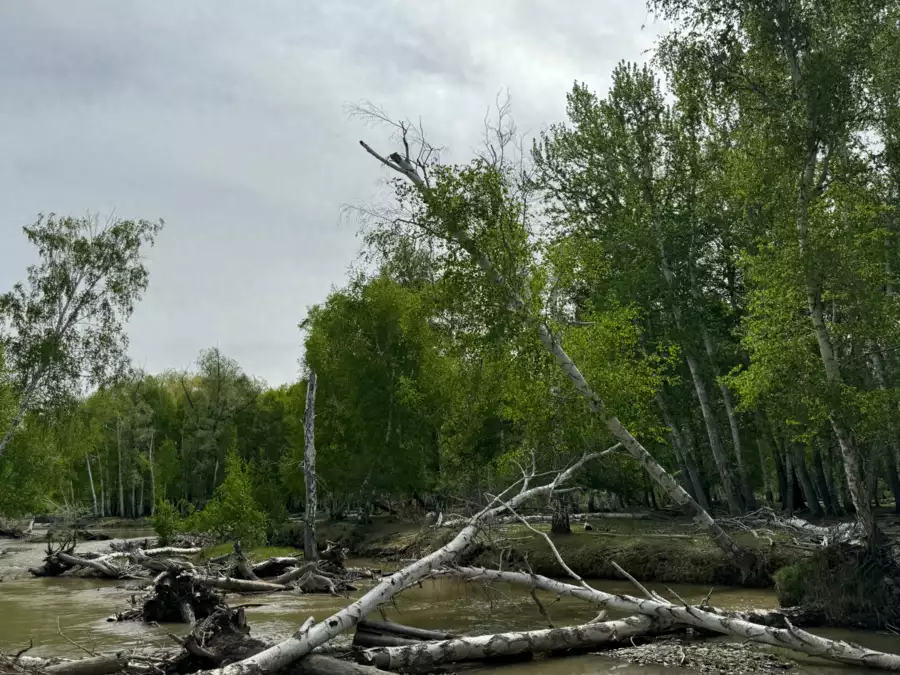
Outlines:
{"label": "birch leaning steeply left over the river, with bare broken top", "polygon": [[[465,167],[446,167],[423,161],[422,154],[410,156],[405,124],[405,154],[385,157],[364,142],[363,148],[382,165],[407,179],[398,187],[398,198],[409,208],[418,204],[413,226],[436,237],[465,255],[473,273],[485,283],[485,292],[497,299],[519,325],[534,331],[537,339],[565,373],[588,409],[602,421],[613,438],[649,473],[669,499],[690,509],[698,524],[748,576],[759,571],[757,558],[737,544],[647,451],[610,411],[604,401],[572,361],[541,314],[539,290],[533,287],[528,271],[534,268],[534,251],[529,239],[532,223],[521,208],[527,203],[527,184],[519,180],[521,166],[512,170],[503,160],[503,144],[491,147],[498,161],[479,158]],[[426,148],[427,154],[427,148]],[[408,186],[408,187],[407,187]],[[522,190],[517,192],[517,190]],[[477,270],[477,272],[475,271]]]}

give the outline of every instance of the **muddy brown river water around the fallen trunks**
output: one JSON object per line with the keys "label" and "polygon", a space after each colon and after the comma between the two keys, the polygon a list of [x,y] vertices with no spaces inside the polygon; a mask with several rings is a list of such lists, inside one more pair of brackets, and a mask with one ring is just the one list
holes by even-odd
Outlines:
{"label": "muddy brown river water around the fallen trunks", "polygon": [[[107,534],[121,538],[143,538],[151,532],[113,531]],[[80,550],[106,551],[109,542],[85,542]],[[0,651],[14,651],[34,642],[31,654],[38,656],[78,657],[82,652],[72,643],[93,651],[123,647],[172,647],[167,632],[182,633],[181,625],[145,625],[140,622],[107,621],[107,617],[129,606],[132,596],[139,594],[140,582],[114,582],[102,579],[59,577],[32,578],[27,569],[39,565],[44,545],[0,539]],[[364,565],[366,561],[354,561]],[[378,563],[369,563],[378,566]],[[633,594],[634,588],[616,581],[591,582],[596,588],[611,593]],[[646,584],[666,595],[663,584]],[[352,597],[358,597],[367,587]],[[680,584],[670,588],[688,602],[702,600],[709,588]],[[775,595],[768,589],[715,589],[712,600],[725,608],[770,609],[777,606]],[[323,595],[272,594],[266,596],[229,597],[232,605],[263,603],[247,609],[247,618],[255,636],[280,638],[289,635],[309,617],[324,619],[342,608],[347,601]],[[556,625],[585,622],[597,610],[571,598],[543,598]],[[422,628],[447,629],[468,633],[491,633],[509,630],[545,628],[537,609],[520,587],[501,586],[488,590],[452,579],[428,581],[410,589],[400,597],[387,616],[401,623]],[[821,634],[900,653],[900,636],[859,631],[823,630]],[[71,642],[70,642],[71,641]],[[503,675],[662,675],[680,672],[697,673],[690,668],[637,666],[603,655],[587,655],[563,659],[543,659],[479,671]],[[851,675],[870,670],[843,667],[813,658],[804,658],[798,671],[803,675]]]}

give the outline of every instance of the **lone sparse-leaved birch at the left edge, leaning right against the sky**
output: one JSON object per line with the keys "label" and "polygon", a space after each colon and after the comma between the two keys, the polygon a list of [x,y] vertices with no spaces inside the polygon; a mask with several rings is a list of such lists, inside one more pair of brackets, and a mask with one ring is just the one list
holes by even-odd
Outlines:
{"label": "lone sparse-leaved birch at the left edge, leaning right against the sky", "polygon": [[124,325],[148,283],[143,255],[162,225],[50,214],[23,228],[40,262],[0,295],[0,341],[18,398],[0,429],[0,455],[38,401],[59,401],[85,379],[102,384],[122,372]]}

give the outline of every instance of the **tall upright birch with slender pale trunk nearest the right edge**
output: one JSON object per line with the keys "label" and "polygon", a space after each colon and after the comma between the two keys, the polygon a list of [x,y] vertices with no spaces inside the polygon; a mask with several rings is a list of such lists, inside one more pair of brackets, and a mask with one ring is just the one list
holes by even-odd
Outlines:
{"label": "tall upright birch with slender pale trunk nearest the right edge", "polygon": [[[765,279],[787,290],[787,297],[802,298],[807,334],[819,356],[821,400],[853,508],[874,542],[877,528],[865,487],[873,469],[852,431],[856,413],[848,394],[854,382],[842,364],[863,336],[838,318],[841,302],[849,300],[845,282],[858,285],[865,279],[851,271],[853,256],[833,243],[834,233],[843,231],[855,239],[851,250],[861,252],[857,228],[874,224],[858,210],[867,191],[862,176],[871,166],[860,134],[873,129],[876,106],[869,83],[875,48],[886,33],[896,33],[896,8],[890,2],[791,0],[706,8],[691,0],[652,4],[681,22],[669,45],[703,55],[710,82],[728,92],[740,110],[743,131],[752,139],[744,147],[762,151],[752,160],[750,176],[768,182],[774,192],[759,194],[750,213],[761,216],[757,223],[771,225],[765,232],[768,246],[760,251],[771,270]],[[742,178],[747,182],[750,176]],[[853,321],[854,314],[855,308],[846,318]]]}

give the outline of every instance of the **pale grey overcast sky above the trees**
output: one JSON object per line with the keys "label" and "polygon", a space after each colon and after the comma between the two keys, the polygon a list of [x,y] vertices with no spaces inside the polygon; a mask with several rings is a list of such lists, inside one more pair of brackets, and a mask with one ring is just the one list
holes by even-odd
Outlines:
{"label": "pale grey overcast sky above the trees", "polygon": [[659,30],[641,0],[3,0],[0,289],[32,261],[38,212],[163,218],[136,364],[218,345],[292,381],[297,323],[359,250],[342,206],[384,175],[357,142],[394,149],[347,103],[421,116],[464,161],[499,91],[537,133]]}

